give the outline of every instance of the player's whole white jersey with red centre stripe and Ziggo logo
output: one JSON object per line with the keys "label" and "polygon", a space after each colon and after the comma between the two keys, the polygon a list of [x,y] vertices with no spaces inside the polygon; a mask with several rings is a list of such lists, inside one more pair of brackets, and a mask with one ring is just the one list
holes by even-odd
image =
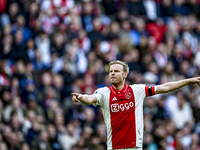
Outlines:
{"label": "player's whole white jersey with red centre stripe and Ziggo logo", "polygon": [[121,91],[111,87],[94,92],[107,128],[107,149],[142,149],[143,101],[155,94],[154,86],[127,85]]}

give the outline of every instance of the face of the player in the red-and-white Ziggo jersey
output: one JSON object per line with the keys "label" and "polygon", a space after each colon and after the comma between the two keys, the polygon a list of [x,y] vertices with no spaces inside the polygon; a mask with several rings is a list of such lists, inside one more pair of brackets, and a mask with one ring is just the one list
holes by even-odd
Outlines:
{"label": "face of the player in the red-and-white Ziggo jersey", "polygon": [[121,84],[125,78],[126,73],[124,73],[122,65],[114,64],[110,66],[109,79],[111,84]]}

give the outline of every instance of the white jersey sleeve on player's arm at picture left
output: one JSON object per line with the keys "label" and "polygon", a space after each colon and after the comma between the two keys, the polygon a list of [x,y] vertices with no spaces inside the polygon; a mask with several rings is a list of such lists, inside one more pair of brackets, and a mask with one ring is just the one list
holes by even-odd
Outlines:
{"label": "white jersey sleeve on player's arm at picture left", "polygon": [[107,93],[106,91],[107,91],[107,87],[104,87],[104,88],[99,88],[99,89],[97,89],[94,93],[93,93],[93,95],[95,95],[96,96],[96,98],[97,98],[97,102],[96,103],[93,103],[93,105],[94,106],[97,106],[97,105],[100,105],[100,106],[103,106],[103,104],[104,104],[104,95],[105,95],[105,93]]}

